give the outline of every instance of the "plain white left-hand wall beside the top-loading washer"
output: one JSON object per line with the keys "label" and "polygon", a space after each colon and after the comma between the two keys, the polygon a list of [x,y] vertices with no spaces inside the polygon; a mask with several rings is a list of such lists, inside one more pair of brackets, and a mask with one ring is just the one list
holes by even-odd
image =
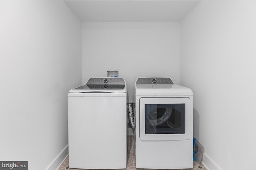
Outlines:
{"label": "plain white left-hand wall beside the top-loading washer", "polygon": [[43,170],[66,149],[81,62],[81,22],[62,0],[0,1],[0,160]]}

